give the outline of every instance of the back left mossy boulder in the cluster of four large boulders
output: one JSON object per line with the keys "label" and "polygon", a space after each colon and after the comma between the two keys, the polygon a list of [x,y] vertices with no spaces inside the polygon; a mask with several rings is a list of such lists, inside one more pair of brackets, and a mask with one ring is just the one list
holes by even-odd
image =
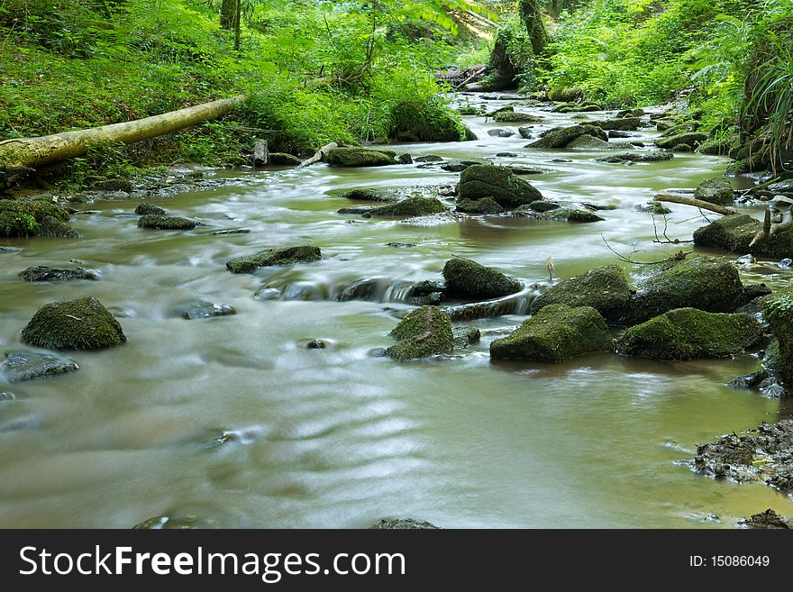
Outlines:
{"label": "back left mossy boulder in the cluster of four large boulders", "polygon": [[536,314],[550,305],[591,306],[606,321],[615,323],[624,314],[632,293],[623,270],[605,265],[549,287],[533,299],[529,310]]}

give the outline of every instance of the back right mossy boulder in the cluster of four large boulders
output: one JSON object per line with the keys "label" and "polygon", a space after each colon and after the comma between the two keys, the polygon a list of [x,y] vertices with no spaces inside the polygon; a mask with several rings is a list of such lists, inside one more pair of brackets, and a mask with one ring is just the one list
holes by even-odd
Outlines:
{"label": "back right mossy boulder in the cluster of four large boulders", "polygon": [[727,260],[695,257],[648,279],[633,295],[621,323],[643,323],[675,308],[731,313],[743,304],[743,284]]}

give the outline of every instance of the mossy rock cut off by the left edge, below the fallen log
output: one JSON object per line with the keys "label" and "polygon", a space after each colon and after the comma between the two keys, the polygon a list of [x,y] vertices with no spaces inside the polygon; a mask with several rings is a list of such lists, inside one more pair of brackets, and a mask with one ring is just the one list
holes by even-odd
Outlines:
{"label": "mossy rock cut off by the left edge, below the fallen log", "polygon": [[0,236],[75,238],[68,212],[45,199],[0,199]]}

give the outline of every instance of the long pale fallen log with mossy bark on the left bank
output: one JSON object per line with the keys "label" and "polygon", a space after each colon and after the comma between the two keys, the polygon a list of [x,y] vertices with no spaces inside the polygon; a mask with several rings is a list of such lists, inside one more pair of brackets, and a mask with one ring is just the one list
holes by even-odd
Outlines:
{"label": "long pale fallen log with mossy bark on the left bank", "polygon": [[203,103],[153,115],[126,123],[112,123],[87,130],[54,133],[37,138],[14,138],[0,141],[0,167],[36,168],[85,154],[91,144],[99,141],[119,141],[132,144],[170,132],[178,132],[196,123],[222,117],[245,97],[233,96],[211,103]]}

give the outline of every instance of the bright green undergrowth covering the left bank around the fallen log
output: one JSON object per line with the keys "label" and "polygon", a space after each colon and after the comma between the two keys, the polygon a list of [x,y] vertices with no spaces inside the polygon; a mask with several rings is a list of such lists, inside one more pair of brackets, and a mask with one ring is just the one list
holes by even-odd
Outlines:
{"label": "bright green undergrowth covering the left bank around the fallen log", "polygon": [[462,1],[246,0],[242,39],[219,2],[0,0],[0,139],[161,114],[222,96],[250,99],[217,122],[129,147],[92,148],[67,167],[77,184],[130,177],[153,162],[245,162],[327,141],[460,138],[433,70],[451,56],[447,8]]}

